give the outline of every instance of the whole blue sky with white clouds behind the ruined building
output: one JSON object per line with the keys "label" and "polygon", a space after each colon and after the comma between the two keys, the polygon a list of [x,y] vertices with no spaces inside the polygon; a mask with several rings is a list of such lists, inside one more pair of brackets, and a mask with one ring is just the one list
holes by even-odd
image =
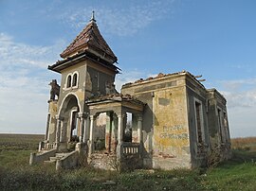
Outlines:
{"label": "whole blue sky with white clouds behind the ruined building", "polygon": [[96,11],[121,84],[182,70],[228,99],[232,137],[256,136],[256,1],[0,0],[0,132],[44,133],[47,65]]}

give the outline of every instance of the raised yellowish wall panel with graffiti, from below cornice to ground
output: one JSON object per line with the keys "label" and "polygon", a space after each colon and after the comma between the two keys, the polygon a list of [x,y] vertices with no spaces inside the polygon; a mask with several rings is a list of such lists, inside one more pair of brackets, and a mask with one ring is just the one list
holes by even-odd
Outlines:
{"label": "raised yellowish wall panel with graffiti, from below cornice to ground", "polygon": [[[177,81],[182,83],[182,81]],[[190,167],[190,137],[185,87],[155,91],[153,167]]]}

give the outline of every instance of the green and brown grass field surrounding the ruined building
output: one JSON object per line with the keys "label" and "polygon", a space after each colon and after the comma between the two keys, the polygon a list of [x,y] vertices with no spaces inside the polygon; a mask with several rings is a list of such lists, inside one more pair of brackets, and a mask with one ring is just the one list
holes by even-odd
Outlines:
{"label": "green and brown grass field surrounding the ruined building", "polygon": [[210,169],[118,173],[28,165],[42,135],[0,134],[0,190],[256,190],[256,138],[233,139],[233,157]]}

